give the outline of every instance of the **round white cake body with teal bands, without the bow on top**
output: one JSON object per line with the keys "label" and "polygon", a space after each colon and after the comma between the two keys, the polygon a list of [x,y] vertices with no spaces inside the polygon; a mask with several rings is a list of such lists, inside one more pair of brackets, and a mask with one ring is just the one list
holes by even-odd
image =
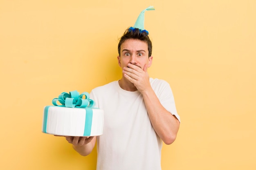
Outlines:
{"label": "round white cake body with teal bands, without the bow on top", "polygon": [[99,108],[45,106],[42,132],[58,136],[103,134],[104,111]]}

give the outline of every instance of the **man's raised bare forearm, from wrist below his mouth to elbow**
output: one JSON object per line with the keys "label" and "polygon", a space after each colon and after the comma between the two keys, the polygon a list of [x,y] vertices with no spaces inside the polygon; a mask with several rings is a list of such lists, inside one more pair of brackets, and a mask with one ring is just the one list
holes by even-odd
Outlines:
{"label": "man's raised bare forearm, from wrist below his mouth to elbow", "polygon": [[175,141],[180,121],[160,103],[152,88],[142,92],[151,124],[165,144]]}

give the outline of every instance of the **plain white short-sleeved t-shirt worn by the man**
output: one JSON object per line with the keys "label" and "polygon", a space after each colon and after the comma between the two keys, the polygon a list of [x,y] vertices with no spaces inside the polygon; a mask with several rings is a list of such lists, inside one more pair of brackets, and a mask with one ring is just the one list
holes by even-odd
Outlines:
{"label": "plain white short-sleeved t-shirt worn by the man", "polygon": [[[180,120],[167,82],[150,78],[161,104]],[[90,98],[104,110],[103,135],[97,137],[97,170],[161,170],[162,140],[151,125],[139,91],[118,81],[94,88]]]}

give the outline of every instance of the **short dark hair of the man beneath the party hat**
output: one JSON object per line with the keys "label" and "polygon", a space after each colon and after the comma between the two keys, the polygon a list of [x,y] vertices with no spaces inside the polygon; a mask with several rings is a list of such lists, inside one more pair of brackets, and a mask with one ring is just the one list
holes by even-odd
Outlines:
{"label": "short dark hair of the man beneath the party hat", "polygon": [[119,39],[119,43],[118,43],[119,56],[121,56],[120,55],[121,44],[123,44],[123,42],[125,40],[128,40],[128,39],[138,39],[138,40],[146,42],[148,44],[148,57],[151,56],[151,54],[152,54],[152,42],[150,41],[150,39],[148,37],[148,33],[144,32],[144,31],[141,31],[138,28],[135,28],[135,29],[132,29],[132,30],[126,29],[126,31],[124,32],[124,35]]}

